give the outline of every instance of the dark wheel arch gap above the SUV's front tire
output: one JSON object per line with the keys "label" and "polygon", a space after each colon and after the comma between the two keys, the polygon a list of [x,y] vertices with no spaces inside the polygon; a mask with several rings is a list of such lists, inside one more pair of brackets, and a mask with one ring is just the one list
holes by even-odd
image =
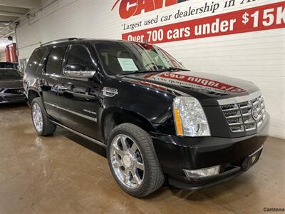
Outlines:
{"label": "dark wheel arch gap above the SUV's front tire", "polygon": [[100,121],[102,121],[100,129],[105,142],[113,128],[122,123],[133,123],[147,132],[154,131],[155,129],[154,126],[152,126],[152,123],[150,123],[150,121],[148,121],[144,116],[122,108],[106,109],[103,112]]}

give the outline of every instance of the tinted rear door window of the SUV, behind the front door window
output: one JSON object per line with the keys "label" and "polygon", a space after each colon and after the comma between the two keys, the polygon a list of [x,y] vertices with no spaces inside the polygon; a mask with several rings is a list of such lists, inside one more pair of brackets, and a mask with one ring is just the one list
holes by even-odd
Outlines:
{"label": "tinted rear door window of the SUV, behind the front door window", "polygon": [[64,54],[66,52],[66,46],[60,46],[53,48],[48,55],[48,62],[46,63],[46,73],[61,74],[61,64]]}

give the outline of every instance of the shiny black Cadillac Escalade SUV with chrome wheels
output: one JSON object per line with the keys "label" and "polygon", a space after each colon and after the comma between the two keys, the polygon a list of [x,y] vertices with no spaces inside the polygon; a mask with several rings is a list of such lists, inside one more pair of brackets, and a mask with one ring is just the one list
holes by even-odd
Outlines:
{"label": "shiny black Cadillac Escalade SUV with chrome wheels", "polygon": [[157,46],[66,39],[33,51],[24,88],[36,131],[56,126],[107,148],[120,188],[206,188],[257,163],[269,128],[261,91],[187,70]]}

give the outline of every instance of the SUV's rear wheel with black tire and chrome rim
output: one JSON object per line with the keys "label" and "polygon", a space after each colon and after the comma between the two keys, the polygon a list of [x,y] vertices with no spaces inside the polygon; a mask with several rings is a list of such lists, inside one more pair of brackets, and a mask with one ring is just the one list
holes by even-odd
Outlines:
{"label": "SUV's rear wheel with black tire and chrome rim", "polygon": [[41,98],[34,98],[31,102],[31,118],[36,132],[40,136],[50,136],[56,131],[56,125],[51,123],[43,108]]}

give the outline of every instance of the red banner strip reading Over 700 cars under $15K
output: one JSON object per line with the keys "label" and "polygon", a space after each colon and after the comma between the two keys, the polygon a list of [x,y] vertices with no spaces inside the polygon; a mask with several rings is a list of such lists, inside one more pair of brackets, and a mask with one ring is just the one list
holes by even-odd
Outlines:
{"label": "red banner strip reading Over 700 cars under $15K", "polygon": [[285,28],[285,1],[122,34],[152,44]]}

